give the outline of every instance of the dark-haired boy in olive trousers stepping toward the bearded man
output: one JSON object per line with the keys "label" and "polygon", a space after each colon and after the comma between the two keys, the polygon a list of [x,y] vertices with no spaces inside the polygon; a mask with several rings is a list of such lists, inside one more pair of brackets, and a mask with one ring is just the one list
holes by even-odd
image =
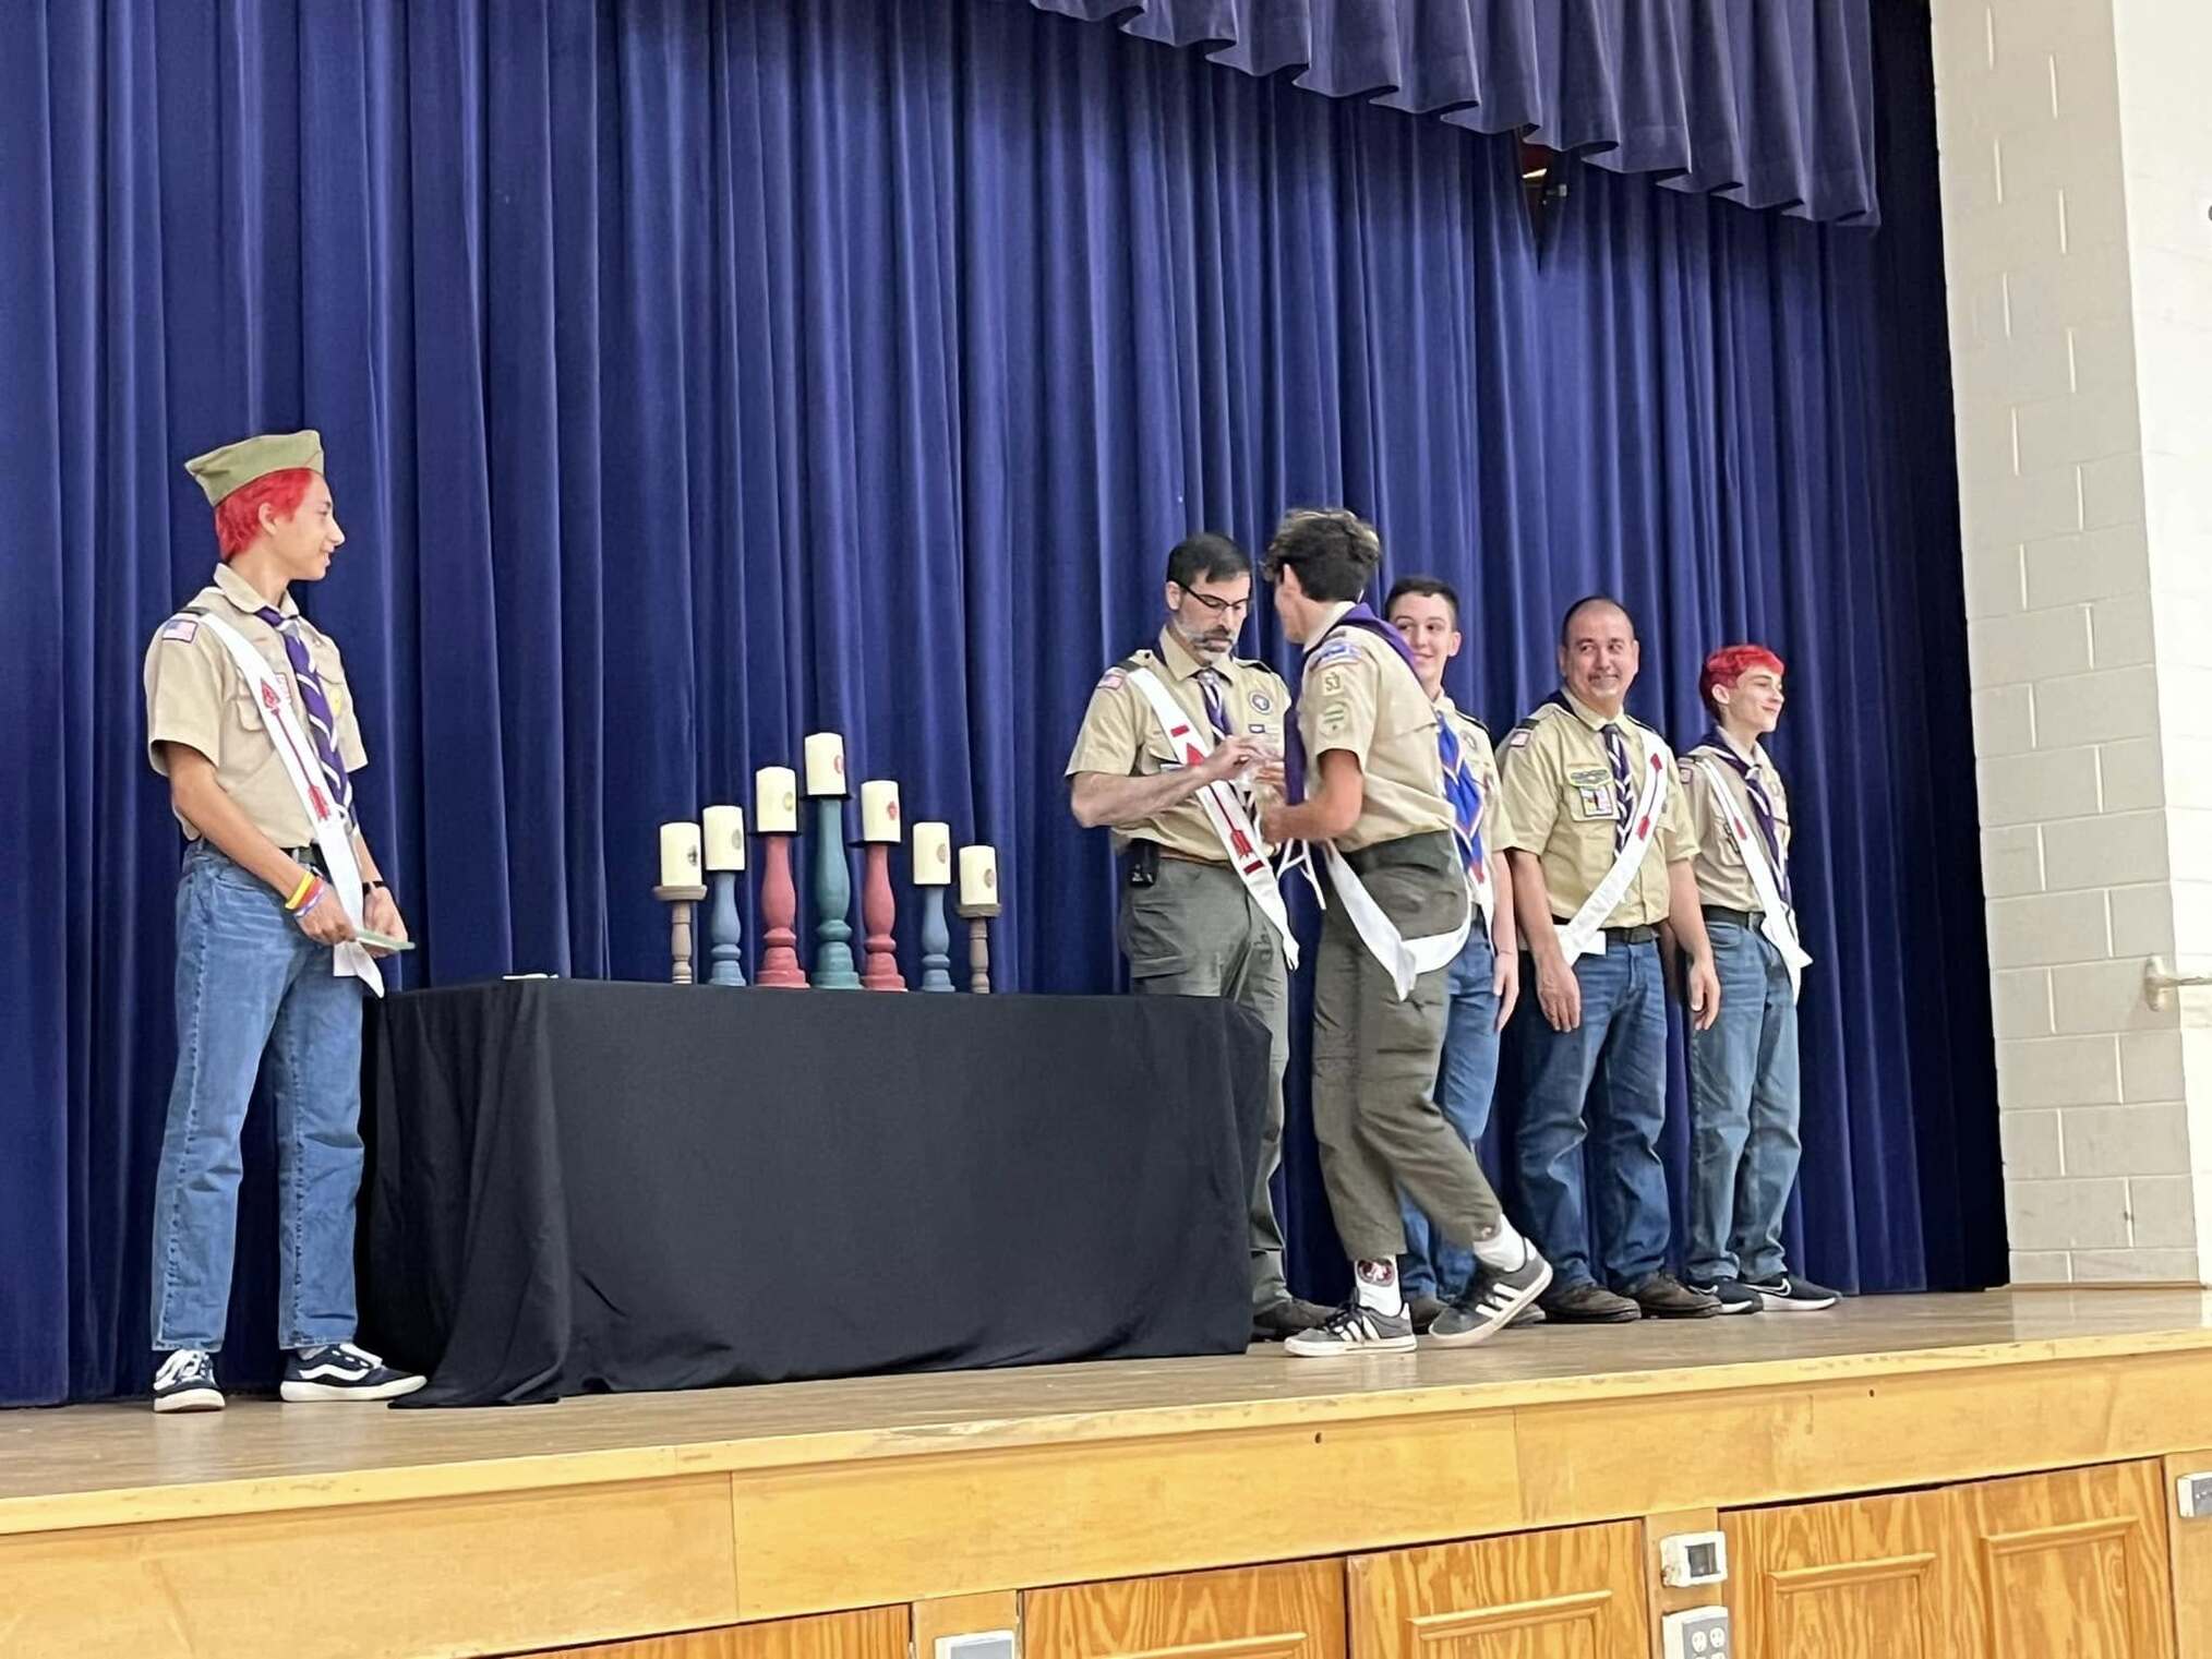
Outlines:
{"label": "dark-haired boy in olive trousers stepping toward the bearded man", "polygon": [[[1290,1338],[1301,1358],[1416,1345],[1398,1283],[1400,1190],[1480,1263],[1429,1327],[1431,1340],[1480,1343],[1551,1283],[1429,1093],[1444,1046],[1447,969],[1471,920],[1444,787],[1458,734],[1440,723],[1405,639],[1358,602],[1380,557],[1374,526],[1329,509],[1290,513],[1265,564],[1305,670],[1285,779],[1292,805],[1270,805],[1261,827],[1270,841],[1321,847],[1329,872],[1314,962],[1314,1135],[1354,1265],[1352,1301]],[[1305,757],[1318,783],[1310,796]]]}

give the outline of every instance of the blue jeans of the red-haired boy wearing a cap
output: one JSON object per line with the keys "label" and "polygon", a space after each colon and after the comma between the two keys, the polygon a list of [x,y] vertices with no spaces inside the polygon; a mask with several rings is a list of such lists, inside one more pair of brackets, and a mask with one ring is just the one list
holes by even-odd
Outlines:
{"label": "blue jeans of the red-haired boy wearing a cap", "polygon": [[354,1336],[361,991],[330,971],[330,949],[274,891],[192,843],[177,883],[177,1082],[155,1179],[155,1349],[223,1345],[239,1133],[263,1060],[276,1113],[276,1340]]}

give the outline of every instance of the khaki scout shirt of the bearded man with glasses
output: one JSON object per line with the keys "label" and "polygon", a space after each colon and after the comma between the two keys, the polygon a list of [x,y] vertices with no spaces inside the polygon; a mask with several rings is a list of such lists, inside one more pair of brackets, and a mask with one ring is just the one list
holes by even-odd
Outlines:
{"label": "khaki scout shirt of the bearded man with glasses", "polygon": [[[1091,692],[1091,708],[1084,710],[1084,723],[1075,732],[1075,752],[1068,754],[1066,776],[1104,772],[1115,779],[1148,779],[1181,765],[1168,734],[1159,730],[1152,703],[1130,681],[1130,672],[1137,668],[1150,668],[1199,730],[1210,730],[1206,692],[1199,688],[1199,670],[1206,664],[1190,655],[1175,628],[1161,628],[1159,650],[1139,650],[1117,661]],[[1243,657],[1223,657],[1212,668],[1225,679],[1221,712],[1228,719],[1230,737],[1256,737],[1281,754],[1283,721],[1290,712],[1290,686],[1283,684],[1283,677],[1267,664]],[[1230,860],[1197,796],[1177,801],[1150,818],[1115,825],[1115,852],[1121,852],[1130,841],[1157,841],[1166,852],[1201,858],[1210,865]]]}

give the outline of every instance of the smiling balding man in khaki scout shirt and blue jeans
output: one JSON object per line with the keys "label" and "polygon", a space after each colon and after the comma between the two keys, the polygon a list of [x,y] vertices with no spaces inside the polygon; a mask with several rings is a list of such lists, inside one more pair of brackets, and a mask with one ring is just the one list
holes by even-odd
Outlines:
{"label": "smiling balding man in khaki scout shirt and blue jeans", "polygon": [[[1559,624],[1562,688],[1513,728],[1500,754],[1513,821],[1506,856],[1528,951],[1509,1033],[1522,1104],[1522,1219],[1557,1267],[1542,1305],[1562,1323],[1721,1312],[1714,1296],[1666,1272],[1661,922],[1672,922],[1688,958],[1694,1026],[1712,1024],[1721,991],[1674,757],[1624,710],[1639,666],[1628,611],[1604,595],[1577,599]],[[1597,1186],[1606,1283],[1590,1263],[1586,1170]]]}

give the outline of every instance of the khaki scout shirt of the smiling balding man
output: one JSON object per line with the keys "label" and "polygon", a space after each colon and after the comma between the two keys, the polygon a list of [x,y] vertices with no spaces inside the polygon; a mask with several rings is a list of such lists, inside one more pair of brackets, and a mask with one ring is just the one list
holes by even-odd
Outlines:
{"label": "khaki scout shirt of the smiling balding man", "polygon": [[[1500,763],[1504,765],[1506,814],[1511,834],[1500,843],[1533,852],[1544,867],[1555,920],[1571,920],[1584,900],[1613,869],[1613,759],[1606,754],[1606,717],[1584,708],[1568,692],[1559,703],[1540,706],[1513,728]],[[1628,765],[1644,765],[1648,743],[1657,734],[1628,714],[1619,717],[1628,741]],[[1670,770],[1674,754],[1659,743],[1659,759]],[[1644,849],[1644,867],[1628,885],[1621,902],[1604,927],[1646,927],[1666,920],[1666,867],[1697,856],[1697,832],[1683,807],[1681,781],[1668,779],[1666,810],[1659,832]]]}

